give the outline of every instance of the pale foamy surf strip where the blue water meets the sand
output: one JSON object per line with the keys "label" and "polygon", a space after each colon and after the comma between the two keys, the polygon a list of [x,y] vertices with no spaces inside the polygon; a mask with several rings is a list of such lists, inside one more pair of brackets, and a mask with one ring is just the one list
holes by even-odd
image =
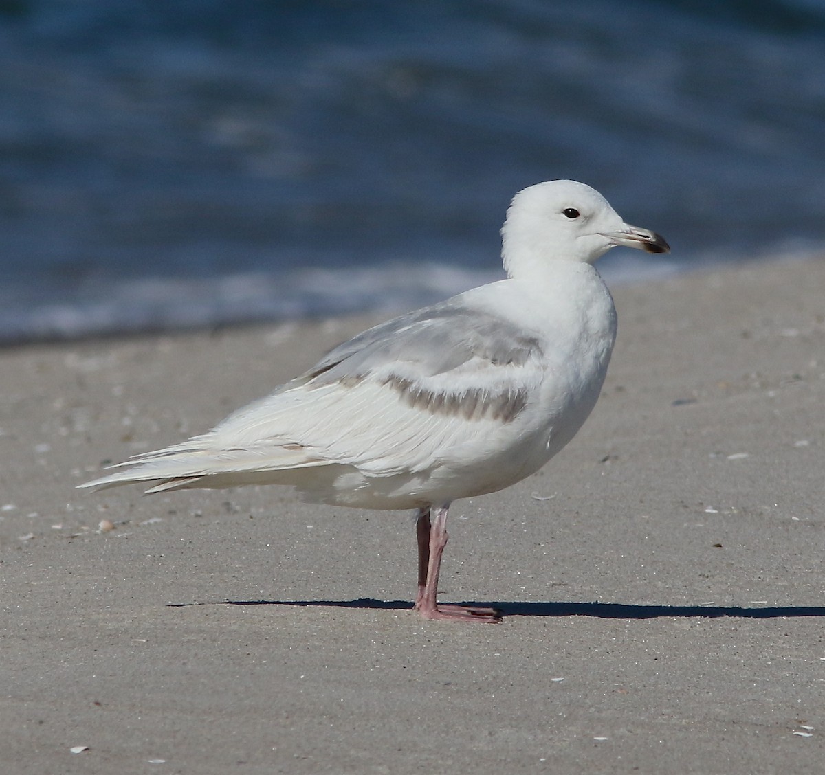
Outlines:
{"label": "pale foamy surf strip where the blue water meets the sand", "polygon": [[[599,267],[606,283],[615,289],[777,261],[816,261],[823,255],[822,250],[800,249],[778,256],[738,256],[719,265],[631,253],[615,256],[618,261],[608,256]],[[409,266],[399,261],[346,270],[296,270],[291,275],[248,271],[206,278],[130,279],[113,281],[95,294],[48,302],[12,286],[0,294],[0,350],[243,331],[332,318],[389,318],[503,278],[500,265],[471,270],[436,262]]]}

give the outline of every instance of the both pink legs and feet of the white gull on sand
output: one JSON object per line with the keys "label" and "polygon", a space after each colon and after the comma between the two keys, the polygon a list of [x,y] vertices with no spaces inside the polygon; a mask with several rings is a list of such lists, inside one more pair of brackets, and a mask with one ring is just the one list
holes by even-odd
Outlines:
{"label": "both pink legs and feet of the white gull on sand", "polygon": [[460,622],[501,622],[495,608],[472,608],[465,605],[439,605],[438,573],[441,555],[447,544],[447,510],[450,505],[437,506],[434,523],[430,509],[418,511],[416,535],[418,538],[418,593],[415,608],[425,619],[450,619]]}

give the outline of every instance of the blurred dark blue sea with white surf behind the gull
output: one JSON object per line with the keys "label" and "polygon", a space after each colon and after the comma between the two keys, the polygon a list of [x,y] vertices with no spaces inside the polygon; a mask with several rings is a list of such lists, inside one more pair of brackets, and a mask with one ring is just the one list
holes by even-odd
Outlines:
{"label": "blurred dark blue sea with white surf behind the gull", "polygon": [[409,308],[585,181],[666,259],[825,247],[825,0],[0,0],[0,341]]}

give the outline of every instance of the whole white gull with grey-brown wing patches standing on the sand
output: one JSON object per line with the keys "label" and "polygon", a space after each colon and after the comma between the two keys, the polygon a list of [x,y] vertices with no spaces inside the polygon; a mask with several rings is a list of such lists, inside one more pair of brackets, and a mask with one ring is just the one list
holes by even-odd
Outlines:
{"label": "whole white gull with grey-brown wing patches standing on the sand", "polygon": [[538,471],[587,419],[616,333],[593,263],[615,246],[670,250],[590,186],[529,186],[502,227],[507,279],[370,328],[208,433],[80,486],[278,484],[313,503],[415,509],[414,608],[499,622],[495,608],[438,603],[447,511]]}

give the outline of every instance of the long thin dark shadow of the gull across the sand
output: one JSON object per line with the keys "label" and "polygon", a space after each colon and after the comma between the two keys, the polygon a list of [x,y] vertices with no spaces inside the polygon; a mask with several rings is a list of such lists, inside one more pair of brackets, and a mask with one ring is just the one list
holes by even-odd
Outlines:
{"label": "long thin dark shadow of the gull across the sand", "polygon": [[[186,608],[206,603],[168,603],[167,608]],[[220,600],[213,605],[290,605],[298,608],[374,608],[383,611],[408,611],[413,604],[407,600]],[[744,619],[772,619],[782,617],[825,617],[825,606],[744,606],[719,605],[628,605],[623,603],[469,603],[473,606],[492,606],[508,616],[589,616],[601,619],[655,619],[658,617],[735,617]]]}

